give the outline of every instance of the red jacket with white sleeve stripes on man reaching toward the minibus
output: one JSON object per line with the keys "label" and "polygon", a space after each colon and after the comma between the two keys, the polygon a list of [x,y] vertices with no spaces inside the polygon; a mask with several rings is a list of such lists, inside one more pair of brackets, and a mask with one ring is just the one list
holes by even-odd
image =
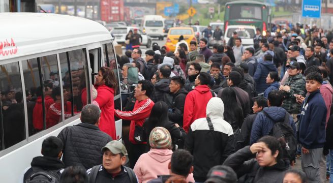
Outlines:
{"label": "red jacket with white sleeve stripes on man reaching toward the minibus", "polygon": [[142,127],[145,118],[149,117],[150,111],[152,110],[153,106],[154,102],[148,98],[140,102],[135,101],[133,111],[115,110],[114,112],[115,116],[125,120],[131,120],[130,142],[137,144],[137,142],[134,140],[135,126],[138,125]]}

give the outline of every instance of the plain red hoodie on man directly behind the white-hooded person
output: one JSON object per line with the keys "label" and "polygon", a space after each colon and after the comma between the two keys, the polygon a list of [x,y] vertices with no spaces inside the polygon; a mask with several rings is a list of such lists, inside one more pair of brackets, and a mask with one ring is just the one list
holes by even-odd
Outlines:
{"label": "plain red hoodie on man directly behind the white-hooded person", "polygon": [[196,86],[185,99],[183,128],[189,131],[194,120],[206,117],[208,101],[213,97],[207,85]]}

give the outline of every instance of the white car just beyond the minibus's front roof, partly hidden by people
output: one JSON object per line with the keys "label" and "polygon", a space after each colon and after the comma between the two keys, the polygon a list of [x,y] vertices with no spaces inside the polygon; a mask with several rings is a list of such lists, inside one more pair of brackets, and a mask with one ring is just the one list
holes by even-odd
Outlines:
{"label": "white car just beyond the minibus's front roof, partly hidden by people", "polygon": [[[114,37],[114,40],[120,44],[125,46],[125,40],[126,40],[126,35],[130,30],[134,32],[134,29],[138,29],[137,27],[114,27],[111,31],[112,36]],[[138,33],[142,37],[142,46],[146,46],[147,48],[150,48],[152,45],[152,39],[147,36],[145,33],[143,33],[140,29],[138,29]]]}

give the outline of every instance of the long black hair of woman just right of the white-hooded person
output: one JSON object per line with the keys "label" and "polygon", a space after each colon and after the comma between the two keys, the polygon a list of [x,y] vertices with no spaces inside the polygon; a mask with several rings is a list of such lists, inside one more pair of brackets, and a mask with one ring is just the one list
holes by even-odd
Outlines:
{"label": "long black hair of woman just right of the white-hooded person", "polygon": [[244,121],[243,109],[238,105],[236,99],[236,93],[233,88],[227,87],[222,91],[221,97],[224,103],[223,116],[224,120],[226,120],[232,127],[233,133],[239,134],[239,129]]}

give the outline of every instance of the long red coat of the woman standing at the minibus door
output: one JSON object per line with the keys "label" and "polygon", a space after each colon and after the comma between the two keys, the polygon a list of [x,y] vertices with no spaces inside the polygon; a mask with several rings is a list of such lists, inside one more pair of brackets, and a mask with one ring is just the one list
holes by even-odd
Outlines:
{"label": "long red coat of the woman standing at the minibus door", "polygon": [[95,86],[97,89],[97,97],[94,103],[98,103],[101,109],[101,119],[99,128],[101,131],[111,136],[113,140],[117,139],[115,133],[114,121],[114,90],[106,85]]}

